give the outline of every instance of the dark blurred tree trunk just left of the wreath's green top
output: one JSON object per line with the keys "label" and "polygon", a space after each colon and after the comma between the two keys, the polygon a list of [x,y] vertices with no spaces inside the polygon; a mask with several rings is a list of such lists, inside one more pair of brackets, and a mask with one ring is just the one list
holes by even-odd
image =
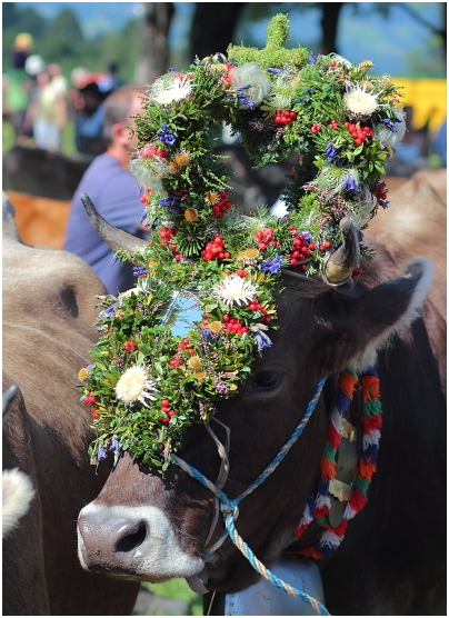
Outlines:
{"label": "dark blurred tree trunk just left of the wreath's green top", "polygon": [[191,33],[190,58],[204,58],[217,51],[226,53],[247,2],[197,2]]}

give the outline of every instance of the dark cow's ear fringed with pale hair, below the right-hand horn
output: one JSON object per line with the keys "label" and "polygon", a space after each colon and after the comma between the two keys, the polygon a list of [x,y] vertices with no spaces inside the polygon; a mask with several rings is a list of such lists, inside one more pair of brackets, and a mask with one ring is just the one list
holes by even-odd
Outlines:
{"label": "dark cow's ear fringed with pale hair, below the right-hand horn", "polygon": [[391,336],[409,327],[419,316],[432,273],[430,261],[416,259],[397,279],[352,298],[347,307],[345,338],[349,358],[343,360],[340,349],[337,353],[339,361],[359,370],[373,365],[377,351],[388,343]]}

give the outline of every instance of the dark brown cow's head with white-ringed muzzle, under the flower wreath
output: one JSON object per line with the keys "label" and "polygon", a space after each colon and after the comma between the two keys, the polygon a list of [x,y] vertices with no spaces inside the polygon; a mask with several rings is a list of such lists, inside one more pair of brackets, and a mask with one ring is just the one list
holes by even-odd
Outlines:
{"label": "dark brown cow's head with white-ringed muzzle, under the flower wreath", "polygon": [[[223,491],[232,499],[272,461],[327,377],[299,440],[239,506],[238,532],[266,566],[278,558],[316,481],[338,373],[370,365],[391,333],[410,323],[430,278],[425,260],[372,289],[343,291],[286,275],[278,300],[281,328],[270,335],[273,346],[256,361],[238,395],[217,403],[216,415],[230,429]],[[225,443],[222,426],[210,427]],[[221,459],[203,425],[187,431],[178,455],[216,482]],[[92,571],[148,581],[188,578],[206,567],[211,590],[243,589],[258,576],[229,538],[204,559],[223,529],[214,512],[213,495],[178,466],[162,475],[126,453],[97,500],[80,514],[80,560]]]}

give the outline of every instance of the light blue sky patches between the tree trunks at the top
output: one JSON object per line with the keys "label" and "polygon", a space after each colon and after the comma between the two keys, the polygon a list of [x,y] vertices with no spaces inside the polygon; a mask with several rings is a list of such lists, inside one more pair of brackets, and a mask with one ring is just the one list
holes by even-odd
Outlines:
{"label": "light blue sky patches between the tree trunks at the top", "polygon": [[[86,37],[119,30],[126,21],[142,14],[140,2],[18,2],[22,6],[32,6],[42,16],[53,17],[64,7],[70,7],[78,16]],[[400,8],[393,7],[388,21],[380,16],[353,16],[350,3],[342,10],[338,44],[341,56],[351,62],[372,60],[379,73],[389,73],[397,77],[407,77],[407,56],[415,51],[427,53],[429,31],[419,27],[412,18],[408,17]],[[371,2],[361,2],[367,8]],[[392,4],[396,4],[395,2]],[[439,2],[415,3],[423,7],[426,19],[438,23]],[[190,17],[194,2],[174,2],[176,14],[170,29],[170,43],[177,47],[188,33]],[[295,43],[309,48],[311,51],[320,38],[320,16],[317,11],[307,11],[291,21],[291,33]],[[261,20],[253,27],[256,44],[263,47],[268,19]],[[291,37],[292,38],[292,37]],[[240,42],[240,41],[238,41]],[[223,51],[223,50],[221,50]]]}

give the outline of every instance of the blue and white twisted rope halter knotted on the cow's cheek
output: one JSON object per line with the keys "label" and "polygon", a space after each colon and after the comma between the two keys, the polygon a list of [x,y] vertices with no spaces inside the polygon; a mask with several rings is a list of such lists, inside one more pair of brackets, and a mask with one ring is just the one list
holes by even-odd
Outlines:
{"label": "blue and white twisted rope halter knotted on the cow's cheek", "polygon": [[226,494],[223,491],[221,491],[221,489],[219,489],[216,485],[213,485],[213,482],[211,482],[209,479],[207,479],[199,470],[197,470],[197,468],[193,468],[192,466],[187,464],[187,461],[183,461],[182,459],[180,459],[179,457],[177,457],[173,453],[171,453],[171,458],[174,461],[174,464],[177,464],[182,470],[188,472],[191,477],[196,478],[203,487],[206,487],[212,494],[214,494],[221,502],[220,510],[221,510],[221,514],[223,516],[226,530],[220,535],[219,539],[214,542],[213,548],[211,549],[211,551],[206,554],[206,556],[204,556],[206,560],[214,552],[216,548],[221,545],[221,542],[226,538],[226,536],[229,535],[232,542],[245,555],[245,557],[249,560],[250,565],[252,566],[252,568],[255,570],[257,570],[260,575],[262,575],[266,579],[271,581],[271,584],[273,584],[275,586],[277,586],[281,590],[286,591],[287,594],[289,594],[291,596],[298,597],[302,601],[311,605],[313,607],[313,609],[320,616],[330,616],[328,610],[319,601],[317,601],[312,597],[309,597],[305,592],[301,592],[301,590],[298,590],[297,588],[295,588],[292,586],[289,586],[288,584],[286,585],[275,574],[272,574],[269,569],[267,569],[256,558],[256,556],[253,555],[251,549],[248,547],[248,545],[243,541],[243,539],[237,534],[237,530],[236,530],[236,527],[235,527],[235,515],[237,512],[239,502],[246,496],[251,494],[257,487],[259,487],[259,485],[261,485],[273,472],[273,470],[279,466],[279,464],[282,461],[282,459],[286,457],[286,455],[289,452],[290,448],[293,446],[293,443],[297,441],[299,436],[302,433],[302,431],[303,431],[303,429],[307,425],[307,421],[309,420],[312,411],[315,410],[315,407],[316,407],[317,401],[318,401],[318,399],[321,395],[321,390],[322,390],[322,387],[325,386],[325,382],[326,382],[326,378],[321,378],[321,380],[318,382],[316,391],[313,393],[313,397],[310,400],[308,407],[306,408],[305,416],[302,417],[298,427],[295,429],[295,431],[290,436],[290,439],[283,445],[283,447],[278,452],[278,455],[275,457],[275,459],[271,461],[271,464],[265,468],[265,470],[259,475],[259,477],[255,480],[255,482],[252,482],[248,487],[248,489],[246,491],[240,494],[240,496],[238,496],[233,500],[229,500],[228,497],[226,496]]}

